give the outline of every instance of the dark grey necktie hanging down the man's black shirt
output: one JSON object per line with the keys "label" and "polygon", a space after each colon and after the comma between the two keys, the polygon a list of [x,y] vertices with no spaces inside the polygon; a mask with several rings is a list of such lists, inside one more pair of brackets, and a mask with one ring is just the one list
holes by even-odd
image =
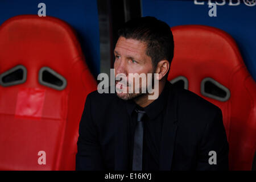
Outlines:
{"label": "dark grey necktie hanging down the man's black shirt", "polygon": [[143,150],[143,122],[145,111],[137,110],[137,125],[134,133],[133,145],[133,171],[142,171],[142,150]]}

